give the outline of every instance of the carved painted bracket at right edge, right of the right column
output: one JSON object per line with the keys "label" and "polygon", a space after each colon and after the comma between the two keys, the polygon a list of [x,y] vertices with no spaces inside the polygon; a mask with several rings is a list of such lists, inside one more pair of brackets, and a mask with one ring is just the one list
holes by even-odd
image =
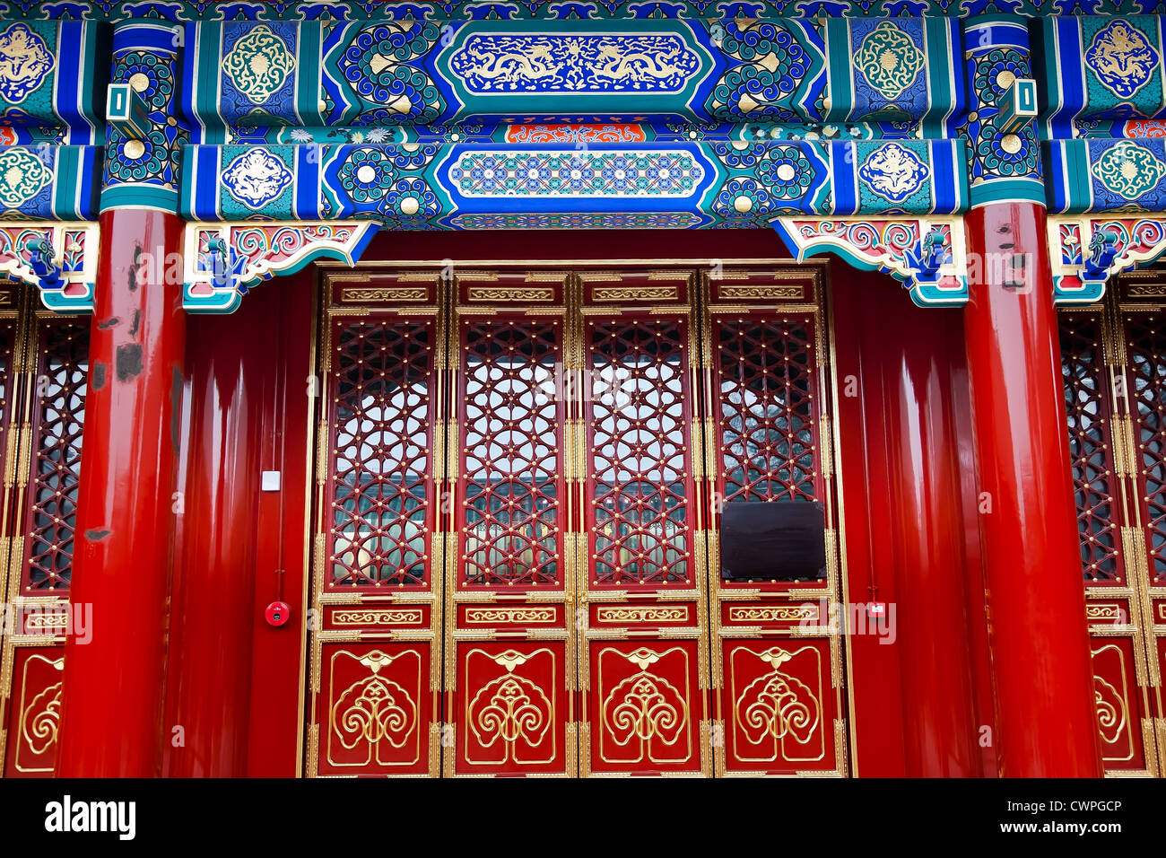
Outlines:
{"label": "carved painted bracket at right edge, right of the right column", "polygon": [[1048,218],[1053,295],[1058,304],[1094,304],[1109,278],[1166,253],[1166,215]]}

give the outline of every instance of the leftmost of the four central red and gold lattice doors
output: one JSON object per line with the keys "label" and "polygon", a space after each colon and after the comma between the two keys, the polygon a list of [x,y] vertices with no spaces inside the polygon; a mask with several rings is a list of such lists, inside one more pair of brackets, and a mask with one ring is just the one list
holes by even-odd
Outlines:
{"label": "leftmost of the four central red and gold lattice doors", "polygon": [[441,765],[444,284],[325,277],[308,774]]}

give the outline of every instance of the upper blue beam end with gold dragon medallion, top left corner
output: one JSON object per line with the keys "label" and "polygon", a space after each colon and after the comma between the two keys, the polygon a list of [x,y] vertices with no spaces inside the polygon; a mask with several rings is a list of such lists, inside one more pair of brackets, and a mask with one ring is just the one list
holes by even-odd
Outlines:
{"label": "upper blue beam end with gold dragon medallion, top left corner", "polygon": [[68,144],[100,142],[108,25],[0,21],[0,126],[58,128]]}

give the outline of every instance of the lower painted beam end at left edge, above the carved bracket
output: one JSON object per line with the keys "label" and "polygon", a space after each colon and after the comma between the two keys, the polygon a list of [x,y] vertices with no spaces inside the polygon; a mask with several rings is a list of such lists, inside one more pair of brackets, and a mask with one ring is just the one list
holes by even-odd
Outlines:
{"label": "lower painted beam end at left edge, above the carved bracket", "polygon": [[94,221],[97,146],[0,146],[0,217]]}

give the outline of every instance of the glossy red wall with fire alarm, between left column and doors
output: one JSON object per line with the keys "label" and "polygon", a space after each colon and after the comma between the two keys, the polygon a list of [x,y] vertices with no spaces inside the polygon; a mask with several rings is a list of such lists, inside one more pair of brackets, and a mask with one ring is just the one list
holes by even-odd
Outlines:
{"label": "glossy red wall with fire alarm, between left column and doors", "polygon": [[[314,277],[264,284],[229,316],[189,318],[163,730],[171,776],[298,772]],[[280,472],[280,491],[260,491],[264,470]],[[264,609],[280,593],[292,619],[273,628]]]}

